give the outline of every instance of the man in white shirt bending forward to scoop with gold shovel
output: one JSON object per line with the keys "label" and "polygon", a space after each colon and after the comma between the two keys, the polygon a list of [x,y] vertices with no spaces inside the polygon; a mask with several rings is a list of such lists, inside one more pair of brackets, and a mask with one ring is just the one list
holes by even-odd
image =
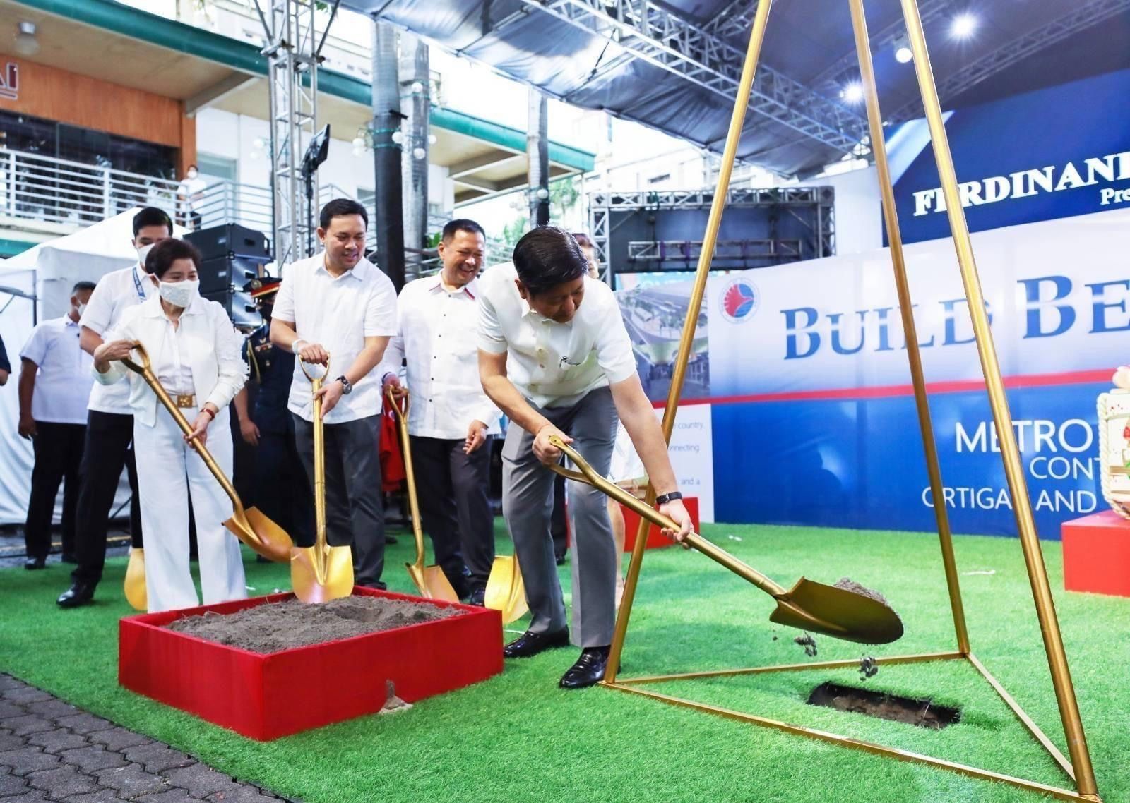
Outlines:
{"label": "man in white shirt bending forward to scoop with gold shovel", "polygon": [[[511,420],[502,452],[503,513],[533,614],[529,629],[506,645],[510,658],[570,640],[549,534],[555,474],[542,465],[562,457],[551,436],[607,475],[618,417],[651,477],[659,509],[680,526],[667,535],[681,541],[690,532],[619,305],[588,270],[572,235],[540,226],[518,242],[513,264],[492,268],[480,280],[479,374]],[[566,485],[573,640],[582,649],[560,687],[581,689],[605,678],[616,616],[616,549],[605,496],[583,483]]]}

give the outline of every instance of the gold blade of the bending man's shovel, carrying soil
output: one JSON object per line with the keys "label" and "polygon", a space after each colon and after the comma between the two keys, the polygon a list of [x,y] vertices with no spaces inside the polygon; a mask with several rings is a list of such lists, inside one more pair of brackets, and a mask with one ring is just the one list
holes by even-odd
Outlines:
{"label": "gold blade of the bending man's shovel, carrying soil", "polygon": [[890,608],[866,594],[801,577],[774,596],[770,621],[845,641],[889,644],[903,635],[903,621]]}

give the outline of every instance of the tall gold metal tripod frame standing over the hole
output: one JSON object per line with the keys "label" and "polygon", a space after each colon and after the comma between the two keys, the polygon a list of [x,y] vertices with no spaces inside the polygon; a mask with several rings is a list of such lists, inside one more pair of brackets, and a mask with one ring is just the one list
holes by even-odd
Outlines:
{"label": "tall gold metal tripod frame standing over the hole", "polygon": [[[867,32],[867,21],[863,16],[863,0],[847,0],[851,8],[852,27],[855,34],[855,50],[859,55],[860,75],[862,78],[863,91],[867,101],[867,117],[870,129],[871,148],[875,152],[875,163],[879,176],[879,189],[883,195],[884,220],[887,227],[887,238],[890,243],[890,261],[894,268],[895,285],[898,291],[898,305],[902,314],[903,328],[906,339],[906,354],[910,359],[911,377],[914,385],[914,401],[918,408],[919,427],[922,434],[922,444],[925,449],[927,470],[930,475],[930,489],[935,499],[941,499],[942,483],[941,470],[938,463],[938,451],[935,444],[933,428],[930,422],[930,405],[927,399],[925,381],[922,373],[922,358],[919,352],[919,339],[915,332],[913,312],[911,306],[910,285],[906,279],[906,265],[903,259],[902,238],[898,232],[898,217],[895,210],[895,197],[890,185],[890,171],[887,165],[886,145],[883,136],[883,117],[879,113],[879,101],[875,85],[875,72],[871,66],[870,40]],[[941,545],[941,560],[946,571],[946,585],[949,593],[949,604],[954,618],[954,629],[957,637],[957,649],[949,652],[925,653],[920,655],[899,655],[886,658],[878,658],[879,664],[903,664],[921,663],[928,661],[967,661],[981,673],[992,686],[1005,704],[1012,710],[1017,718],[1032,733],[1032,735],[1044,747],[1057,765],[1071,779],[1074,788],[1060,788],[1041,784],[1034,780],[1017,778],[988,769],[980,769],[955,761],[933,758],[921,753],[899,750],[897,748],[885,747],[866,742],[858,739],[841,736],[825,731],[817,731],[800,725],[768,719],[753,714],[720,708],[718,706],[705,705],[694,700],[681,699],[669,695],[662,695],[641,688],[650,683],[659,683],[671,680],[688,680],[693,678],[719,678],[727,675],[758,674],[767,672],[788,672],[810,669],[837,669],[858,666],[858,661],[825,661],[810,664],[790,664],[779,666],[758,666],[753,669],[721,670],[712,672],[690,672],[685,674],[650,675],[632,678],[627,680],[617,679],[617,667],[620,663],[620,653],[624,648],[624,639],[627,635],[628,621],[632,617],[632,603],[635,599],[636,584],[640,579],[640,569],[643,564],[644,545],[646,532],[650,523],[642,520],[640,531],[636,535],[635,547],[632,550],[632,561],[628,565],[628,574],[624,584],[624,597],[620,603],[619,613],[616,619],[616,629],[612,636],[611,655],[608,661],[608,671],[603,686],[634,695],[649,697],[655,700],[711,714],[724,716],[731,719],[772,727],[785,733],[792,733],[825,742],[832,742],[847,748],[864,750],[870,753],[887,756],[903,761],[914,761],[931,767],[948,769],[974,778],[988,780],[999,780],[1024,789],[1042,792],[1059,800],[1067,801],[1098,801],[1098,789],[1095,784],[1095,773],[1090,763],[1090,754],[1087,751],[1087,742],[1083,732],[1083,721],[1079,717],[1079,707],[1075,697],[1075,687],[1071,683],[1071,673],[1068,670],[1067,655],[1063,651],[1063,640],[1060,635],[1059,620],[1055,616],[1055,606],[1052,602],[1051,586],[1048,582],[1048,571],[1041,553],[1040,540],[1036,535],[1035,524],[1032,518],[1032,501],[1028,496],[1027,483],[1024,479],[1024,470],[1020,463],[1020,455],[1016,445],[1016,436],[1012,429],[1012,418],[1008,409],[1008,399],[1005,395],[1003,383],[1000,376],[1000,365],[997,360],[997,350],[993,346],[992,332],[989,329],[989,320],[985,313],[984,298],[981,293],[981,281],[977,276],[976,264],[973,260],[973,247],[970,242],[968,228],[965,224],[965,211],[962,208],[960,198],[957,190],[957,177],[954,173],[954,163],[949,152],[949,142],[946,139],[946,129],[941,117],[941,107],[938,102],[937,87],[933,80],[933,72],[930,68],[930,56],[927,52],[925,35],[922,30],[922,19],[919,15],[916,0],[901,0],[903,16],[906,20],[906,29],[910,34],[911,50],[914,56],[914,70],[918,76],[919,90],[922,96],[922,104],[925,108],[925,116],[930,128],[930,139],[933,145],[935,159],[938,164],[938,174],[941,178],[941,189],[946,199],[949,226],[957,251],[957,262],[962,273],[962,281],[965,287],[965,296],[968,300],[970,315],[973,321],[973,331],[976,338],[977,355],[981,359],[981,369],[984,376],[985,387],[989,393],[989,402],[992,408],[993,421],[997,427],[1000,442],[1001,460],[1005,464],[1005,473],[1008,479],[1008,488],[1014,501],[1014,513],[1016,516],[1017,532],[1020,538],[1020,547],[1024,551],[1024,560],[1032,584],[1032,594],[1035,601],[1036,617],[1040,621],[1040,629],[1044,641],[1044,652],[1048,655],[1048,665],[1051,671],[1052,686],[1055,691],[1055,700],[1059,704],[1060,719],[1063,724],[1063,733],[1067,737],[1068,752],[1070,758],[1052,743],[1052,741],[1040,730],[1032,718],[1017,705],[1008,691],[998,682],[988,669],[977,660],[970,647],[968,632],[965,627],[965,612],[962,606],[962,592],[957,581],[957,566],[954,559],[953,535],[949,529],[949,517],[945,505],[935,505],[935,516],[938,524],[938,538]],[[746,107],[749,103],[750,87],[754,80],[754,72],[760,53],[762,42],[765,38],[765,27],[768,20],[770,6],[772,0],[758,0],[757,12],[754,18],[753,28],[749,34],[749,46],[746,51],[746,60],[741,71],[741,80],[738,86],[738,96],[734,101],[733,114],[730,117],[730,129],[727,134],[725,149],[722,155],[722,164],[718,176],[718,186],[711,203],[710,217],[706,222],[706,234],[703,237],[702,254],[698,259],[698,268],[695,277],[694,290],[687,307],[687,317],[683,328],[683,337],[679,342],[679,355],[675,364],[671,377],[671,387],[667,398],[667,408],[663,411],[663,436],[670,442],[671,431],[675,427],[675,416],[679,405],[679,396],[683,391],[683,382],[686,376],[687,363],[690,358],[690,346],[695,335],[695,326],[698,322],[698,312],[702,308],[703,294],[706,289],[706,278],[710,271],[710,263],[714,254],[714,246],[718,241],[719,225],[722,221],[722,211],[725,206],[725,198],[730,185],[730,174],[733,169],[733,160],[738,149],[738,140],[741,134],[745,121]],[[647,489],[647,504],[654,504],[654,490]]]}

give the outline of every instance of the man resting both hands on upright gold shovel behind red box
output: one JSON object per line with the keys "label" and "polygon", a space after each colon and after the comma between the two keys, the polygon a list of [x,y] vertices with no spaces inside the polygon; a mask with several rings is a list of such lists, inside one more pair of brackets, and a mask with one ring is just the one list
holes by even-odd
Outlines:
{"label": "man resting both hands on upright gold shovel behind red box", "polygon": [[[367,228],[368,215],[356,201],[339,198],[322,207],[318,238],[324,251],[282,270],[271,342],[306,363],[331,360],[319,391],[325,424],[327,540],[354,547],[357,585],[384,588],[381,379],[371,373],[397,332],[397,291],[364,258]],[[313,489],[313,394],[298,360],[287,409]]]}

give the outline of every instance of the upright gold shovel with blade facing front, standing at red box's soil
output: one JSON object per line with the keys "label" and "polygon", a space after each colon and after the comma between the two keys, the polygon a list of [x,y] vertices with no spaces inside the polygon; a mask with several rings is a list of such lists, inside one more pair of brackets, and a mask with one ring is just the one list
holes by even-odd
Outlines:
{"label": "upright gold shovel with blade facing front, standing at red box's soil", "polygon": [[322,425],[322,399],[316,395],[322,379],[310,375],[303,359],[298,367],[310,379],[314,395],[314,545],[290,549],[290,585],[303,602],[329,602],[353,593],[353,552],[349,547],[330,547],[325,542],[325,431]]}

